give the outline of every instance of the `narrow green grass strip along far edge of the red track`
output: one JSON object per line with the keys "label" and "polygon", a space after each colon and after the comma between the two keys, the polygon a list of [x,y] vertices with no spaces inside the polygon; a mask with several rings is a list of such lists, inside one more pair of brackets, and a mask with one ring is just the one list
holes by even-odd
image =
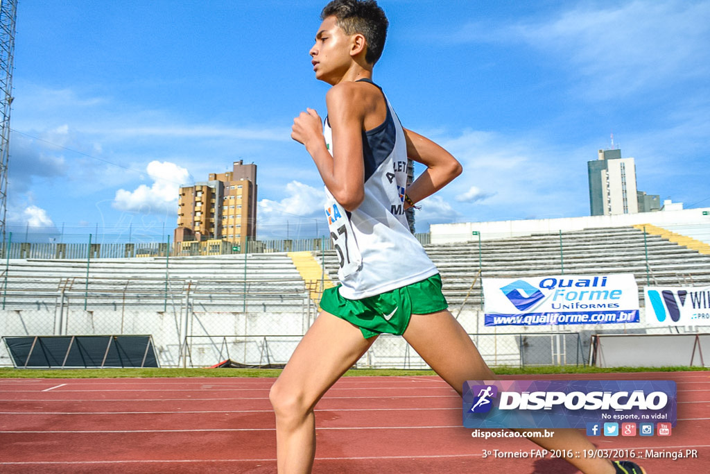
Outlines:
{"label": "narrow green grass strip along far edge of the red track", "polygon": [[[533,374],[605,374],[610,372],[690,372],[706,371],[705,367],[493,367],[498,375]],[[0,368],[0,378],[24,379],[95,379],[121,377],[278,377],[280,369],[209,369],[209,368],[146,368],[146,369],[16,369]],[[415,375],[436,375],[433,370],[400,369],[351,369],[345,377],[381,376],[411,377]]]}

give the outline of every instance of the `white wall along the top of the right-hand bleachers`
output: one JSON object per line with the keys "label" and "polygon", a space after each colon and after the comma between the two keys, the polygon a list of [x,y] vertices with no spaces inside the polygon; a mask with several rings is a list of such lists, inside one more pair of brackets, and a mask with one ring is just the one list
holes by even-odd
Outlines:
{"label": "white wall along the top of the right-hand bleachers", "polygon": [[[567,217],[563,219],[501,220],[493,222],[462,222],[459,224],[432,224],[430,227],[432,244],[469,242],[478,240],[471,235],[474,230],[481,232],[481,239],[500,239],[537,233],[563,232],[599,227],[627,227],[636,224],[653,224],[659,227],[684,226],[691,230],[710,227],[710,215],[703,212],[710,208],[684,209],[658,212],[638,212],[623,215],[595,215],[585,217]],[[680,227],[678,227],[680,228]],[[694,235],[688,235],[694,237]],[[698,238],[698,237],[694,237]],[[707,238],[707,237],[705,237]],[[710,243],[710,239],[701,239]]]}

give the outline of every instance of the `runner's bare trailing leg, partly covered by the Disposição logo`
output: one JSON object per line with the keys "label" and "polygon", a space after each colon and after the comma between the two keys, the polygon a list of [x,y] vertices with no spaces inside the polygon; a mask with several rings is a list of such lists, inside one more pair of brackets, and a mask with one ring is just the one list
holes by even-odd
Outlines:
{"label": "runner's bare trailing leg, partly covered by the Disposi\u00e7\u00e3o logo", "polygon": [[[412,315],[404,338],[422,359],[446,380],[459,395],[466,380],[497,379],[479,354],[469,335],[449,311]],[[546,448],[562,452],[596,449],[586,436],[575,429],[556,429],[552,438],[528,438]],[[603,458],[567,461],[583,473],[613,474],[611,461]]]}

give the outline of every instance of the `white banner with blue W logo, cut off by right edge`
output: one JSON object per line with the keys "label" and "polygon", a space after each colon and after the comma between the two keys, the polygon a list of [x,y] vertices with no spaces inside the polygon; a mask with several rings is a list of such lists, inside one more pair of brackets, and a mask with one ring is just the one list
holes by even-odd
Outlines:
{"label": "white banner with blue W logo, cut off by right edge", "polygon": [[643,298],[649,325],[710,325],[710,286],[646,286]]}

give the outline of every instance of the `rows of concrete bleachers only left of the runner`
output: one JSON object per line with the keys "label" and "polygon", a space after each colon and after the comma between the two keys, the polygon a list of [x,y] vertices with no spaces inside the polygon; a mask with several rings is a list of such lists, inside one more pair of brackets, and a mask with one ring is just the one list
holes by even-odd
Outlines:
{"label": "rows of concrete bleachers only left of the runner", "polygon": [[160,309],[189,291],[195,309],[273,312],[300,311],[308,295],[285,253],[92,259],[88,266],[87,281],[86,260],[11,259],[2,274],[3,304],[39,307],[64,293],[92,308]]}

